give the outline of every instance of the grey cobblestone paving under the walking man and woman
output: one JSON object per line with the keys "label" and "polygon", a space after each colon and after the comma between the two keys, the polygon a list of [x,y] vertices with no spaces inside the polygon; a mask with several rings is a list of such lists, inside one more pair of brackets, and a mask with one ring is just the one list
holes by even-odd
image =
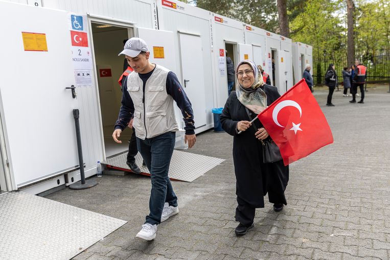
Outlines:
{"label": "grey cobblestone paving under the walking man and woman", "polygon": [[[134,239],[146,214],[150,179],[104,176],[84,191],[49,199],[128,221],[74,259],[390,259],[390,93],[370,89],[365,104],[327,90],[314,94],[334,144],[290,166],[288,205],[256,210],[255,227],[236,237],[233,137],[208,131],[189,150],[226,159],[192,183],[175,181],[180,212],[158,226],[156,239]],[[267,198],[265,198],[268,201]]]}

